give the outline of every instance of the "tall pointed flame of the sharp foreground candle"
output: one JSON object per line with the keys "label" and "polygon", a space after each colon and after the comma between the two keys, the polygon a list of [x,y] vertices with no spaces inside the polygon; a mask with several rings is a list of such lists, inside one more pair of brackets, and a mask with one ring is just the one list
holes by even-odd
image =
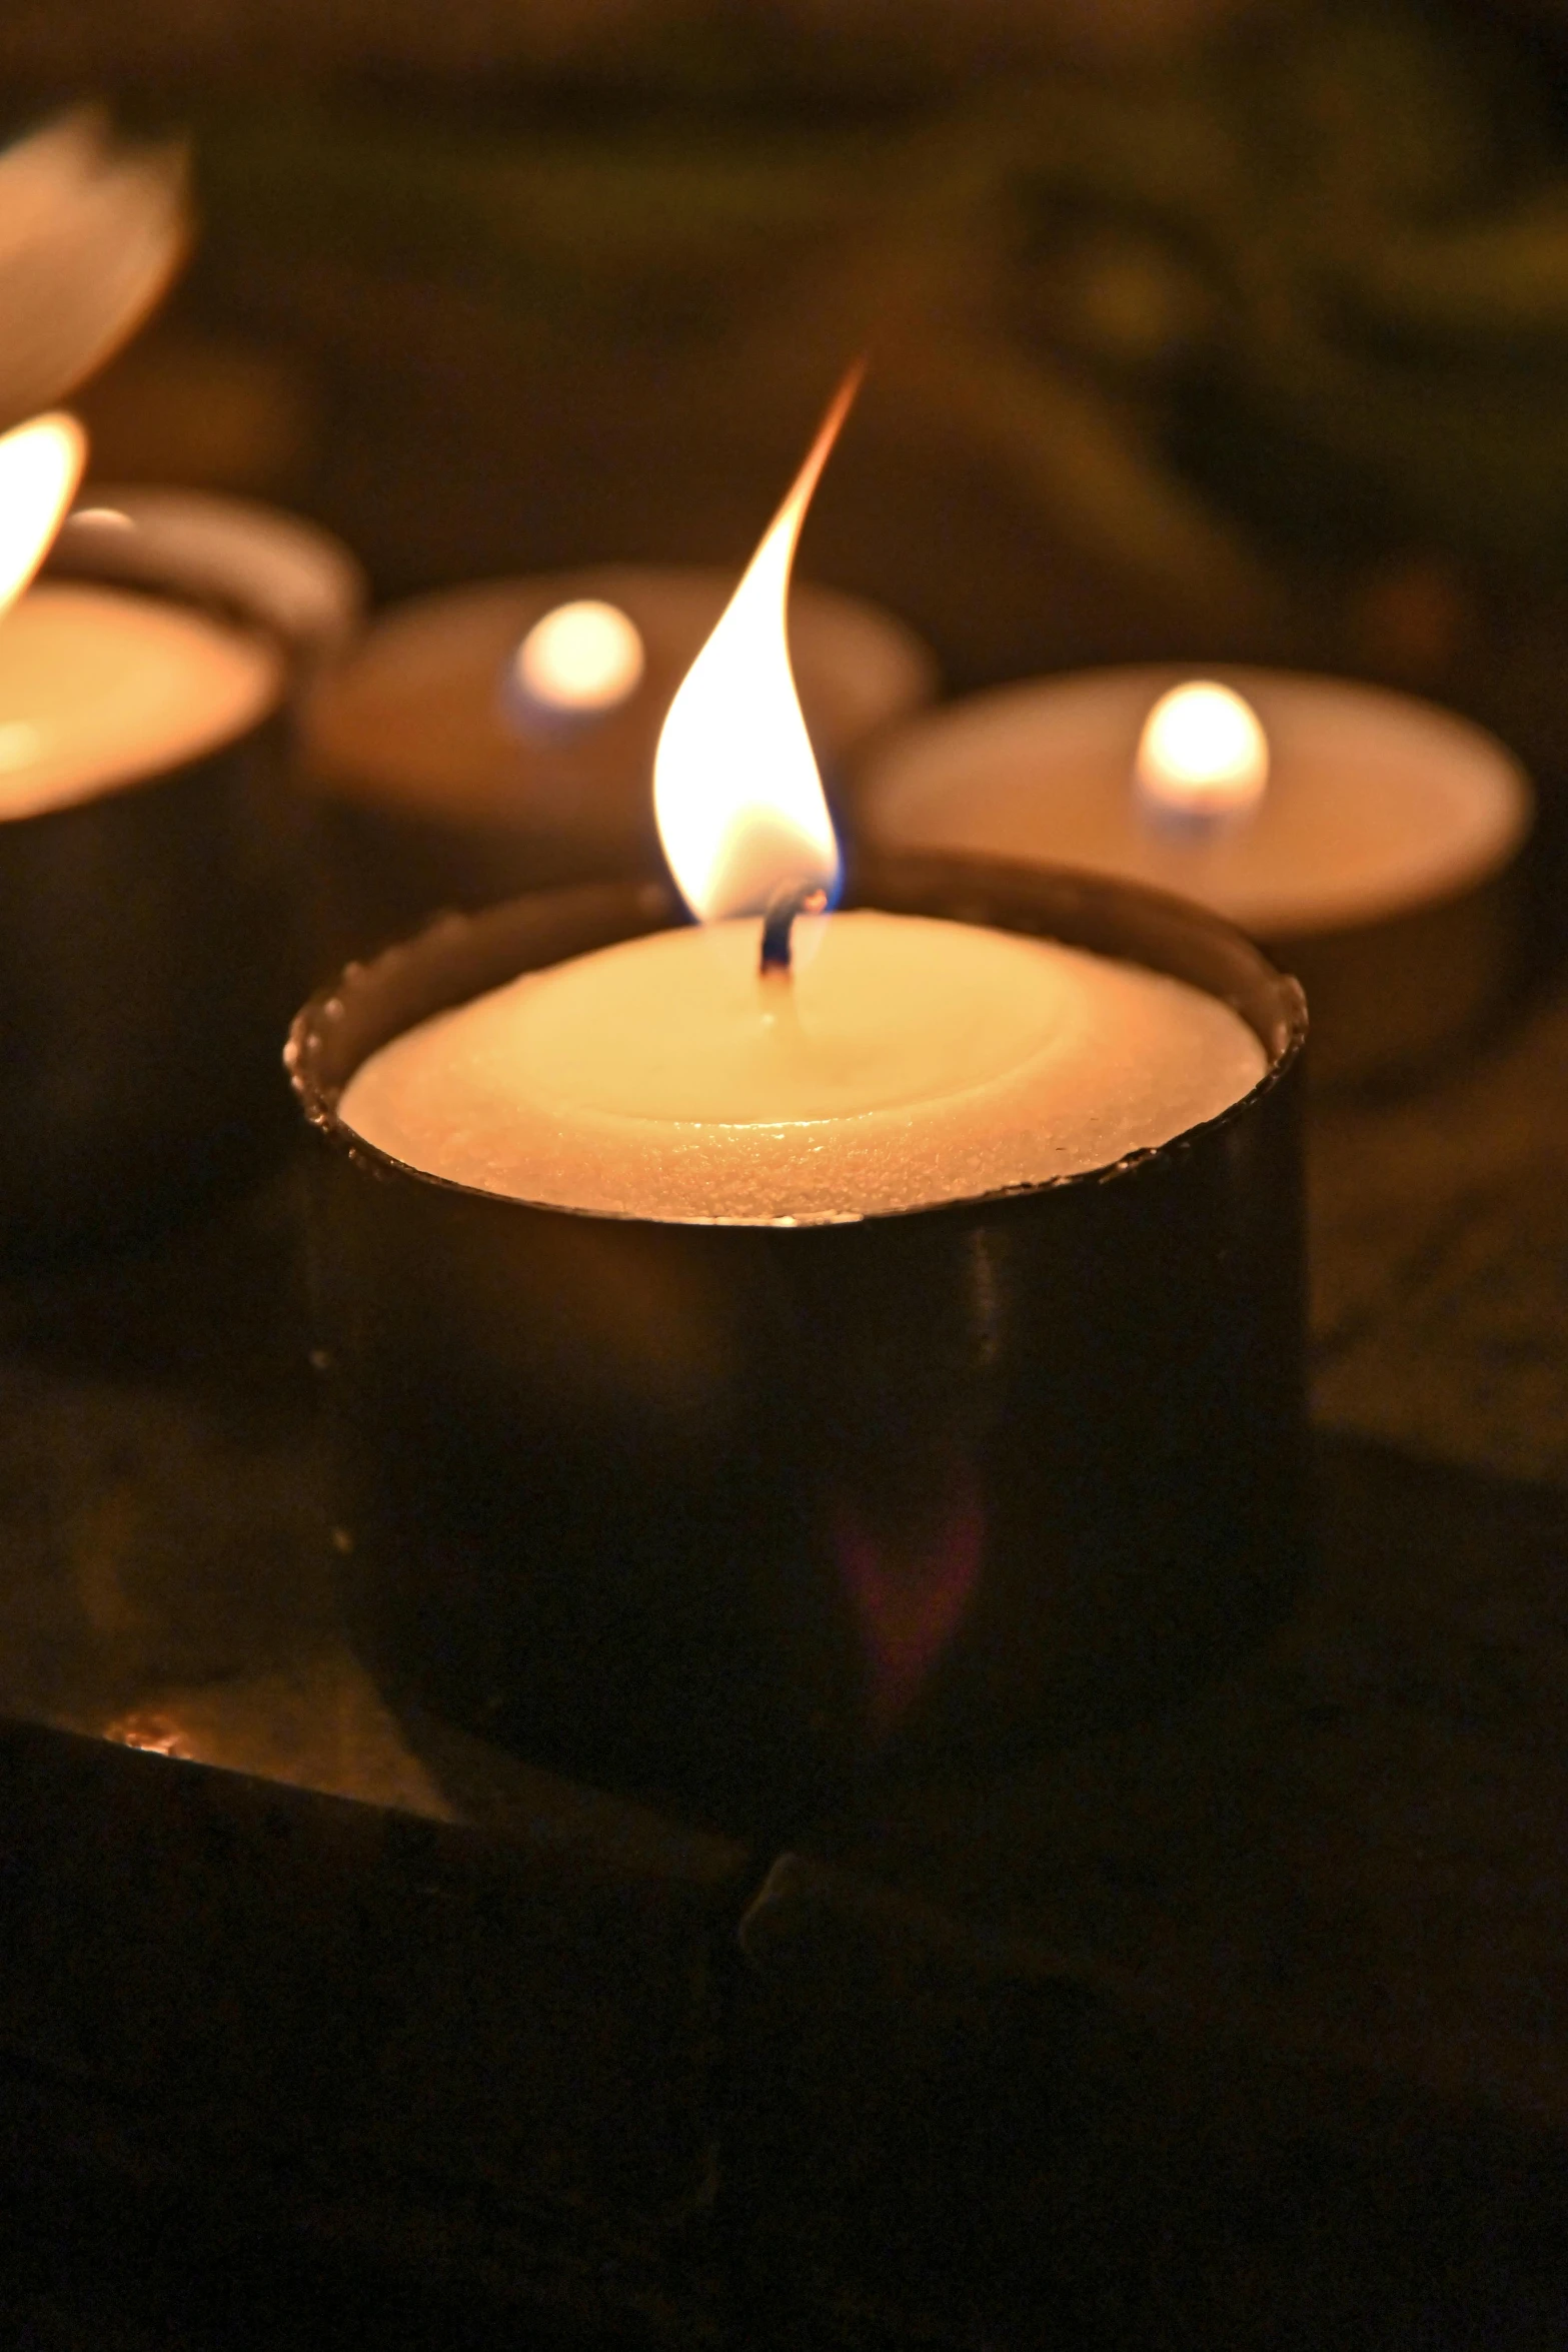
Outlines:
{"label": "tall pointed flame of the sharp foreground candle", "polygon": [[701,922],[759,915],[785,884],[839,880],[839,844],[795,694],[785,609],[790,564],[856,365],[769,524],[745,579],[696,656],[658,739],[654,814],[670,873]]}

